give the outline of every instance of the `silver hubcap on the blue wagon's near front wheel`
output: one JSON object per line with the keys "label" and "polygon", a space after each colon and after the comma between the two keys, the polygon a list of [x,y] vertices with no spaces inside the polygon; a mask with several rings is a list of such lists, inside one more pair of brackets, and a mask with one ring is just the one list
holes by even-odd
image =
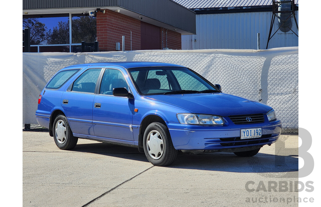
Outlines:
{"label": "silver hubcap on the blue wagon's near front wheel", "polygon": [[156,130],[151,131],[147,135],[147,151],[149,155],[154,159],[158,160],[164,152],[164,142],[160,133]]}

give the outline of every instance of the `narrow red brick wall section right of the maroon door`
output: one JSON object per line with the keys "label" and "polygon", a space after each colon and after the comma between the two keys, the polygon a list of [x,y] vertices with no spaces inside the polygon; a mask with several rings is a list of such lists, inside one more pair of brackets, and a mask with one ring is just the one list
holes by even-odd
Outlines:
{"label": "narrow red brick wall section right of the maroon door", "polygon": [[[166,30],[163,29],[163,44],[162,44],[162,27],[160,27],[160,48],[162,48],[162,45],[166,47]],[[167,30],[167,47],[169,49],[182,49],[182,36],[181,33],[178,33],[173,30]]]}

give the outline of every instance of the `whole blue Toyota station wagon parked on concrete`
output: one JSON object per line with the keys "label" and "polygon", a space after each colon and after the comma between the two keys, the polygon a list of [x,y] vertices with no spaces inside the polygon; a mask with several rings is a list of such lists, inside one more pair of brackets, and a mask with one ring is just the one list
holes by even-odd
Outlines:
{"label": "whole blue Toyota station wagon parked on concrete", "polygon": [[179,150],[254,156],[281,133],[271,107],[223,93],[187,67],[153,62],[65,67],[41,91],[36,117],[60,149],[78,138],[132,146],[156,166],[172,164]]}

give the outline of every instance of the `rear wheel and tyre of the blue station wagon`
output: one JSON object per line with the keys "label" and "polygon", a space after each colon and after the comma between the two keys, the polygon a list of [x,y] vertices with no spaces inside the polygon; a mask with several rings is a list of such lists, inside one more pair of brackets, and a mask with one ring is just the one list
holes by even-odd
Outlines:
{"label": "rear wheel and tyre of the blue station wagon", "polygon": [[55,118],[52,134],[54,135],[57,147],[61,150],[71,150],[78,142],[78,137],[73,136],[67,118],[63,114],[59,114]]}

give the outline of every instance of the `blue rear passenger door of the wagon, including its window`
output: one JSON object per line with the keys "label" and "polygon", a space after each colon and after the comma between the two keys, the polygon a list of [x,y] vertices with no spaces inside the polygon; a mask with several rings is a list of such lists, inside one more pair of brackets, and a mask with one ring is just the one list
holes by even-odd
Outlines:
{"label": "blue rear passenger door of the wagon, including its window", "polygon": [[102,68],[87,68],[61,98],[70,127],[75,134],[94,135],[92,108]]}

